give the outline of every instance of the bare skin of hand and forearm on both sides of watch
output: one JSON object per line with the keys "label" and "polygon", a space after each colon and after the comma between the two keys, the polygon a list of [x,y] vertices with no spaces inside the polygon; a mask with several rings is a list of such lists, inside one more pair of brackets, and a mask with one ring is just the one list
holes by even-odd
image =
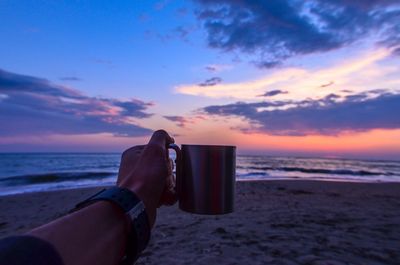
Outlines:
{"label": "bare skin of hand and forearm on both sides of watch", "polygon": [[[168,145],[173,142],[159,130],[147,145],[129,148],[121,157],[117,186],[130,189],[143,201],[151,227],[157,207],[176,202],[168,158]],[[66,265],[111,265],[124,256],[130,229],[129,218],[118,206],[99,201],[28,234],[51,243]]]}

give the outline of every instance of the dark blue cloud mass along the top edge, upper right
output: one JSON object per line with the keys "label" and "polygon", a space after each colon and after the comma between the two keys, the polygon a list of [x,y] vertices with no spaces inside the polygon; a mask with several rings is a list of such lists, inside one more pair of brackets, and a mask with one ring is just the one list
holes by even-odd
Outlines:
{"label": "dark blue cloud mass along the top edge, upper right", "polygon": [[367,38],[385,47],[400,45],[398,0],[195,2],[210,47],[254,55],[262,68]]}

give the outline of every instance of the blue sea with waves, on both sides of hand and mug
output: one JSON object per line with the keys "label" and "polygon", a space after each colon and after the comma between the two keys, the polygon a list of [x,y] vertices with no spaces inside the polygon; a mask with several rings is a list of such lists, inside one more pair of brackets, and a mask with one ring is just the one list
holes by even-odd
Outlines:
{"label": "blue sea with waves, on both sides of hand and mug", "polygon": [[[116,181],[119,153],[0,153],[0,195],[106,186]],[[236,180],[400,182],[400,161],[246,156]]]}

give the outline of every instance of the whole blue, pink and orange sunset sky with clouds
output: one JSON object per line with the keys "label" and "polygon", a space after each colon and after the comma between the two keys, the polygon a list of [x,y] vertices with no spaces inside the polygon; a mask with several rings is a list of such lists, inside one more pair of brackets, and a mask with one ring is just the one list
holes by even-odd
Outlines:
{"label": "whole blue, pink and orange sunset sky with clouds", "polygon": [[165,129],[400,159],[398,0],[0,0],[0,21],[0,152],[121,152]]}

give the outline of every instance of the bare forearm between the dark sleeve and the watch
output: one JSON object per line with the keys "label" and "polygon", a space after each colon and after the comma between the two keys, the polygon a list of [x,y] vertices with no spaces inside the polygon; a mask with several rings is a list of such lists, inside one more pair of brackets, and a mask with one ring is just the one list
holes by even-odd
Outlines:
{"label": "bare forearm between the dark sleeve and the watch", "polygon": [[125,253],[129,220],[110,202],[96,202],[38,227],[30,235],[50,242],[69,264],[118,264]]}

